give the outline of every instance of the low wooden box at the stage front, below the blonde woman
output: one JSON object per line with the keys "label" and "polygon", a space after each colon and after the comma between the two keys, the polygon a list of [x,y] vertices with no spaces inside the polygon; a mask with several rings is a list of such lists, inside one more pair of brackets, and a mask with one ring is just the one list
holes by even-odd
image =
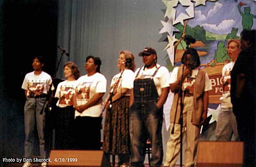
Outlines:
{"label": "low wooden box at the stage front, below the blonde woman", "polygon": [[243,142],[200,141],[197,167],[242,167],[243,153]]}

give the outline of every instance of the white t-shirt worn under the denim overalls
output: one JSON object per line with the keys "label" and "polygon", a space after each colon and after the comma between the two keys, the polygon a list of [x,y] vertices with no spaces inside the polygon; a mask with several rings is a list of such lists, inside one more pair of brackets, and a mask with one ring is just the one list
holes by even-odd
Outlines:
{"label": "white t-shirt worn under the denim overalls", "polygon": [[[156,66],[160,67],[160,64],[157,64]],[[157,67],[153,67],[150,69],[147,69],[147,68],[143,69],[144,67],[142,67],[140,71],[139,71],[140,68],[138,68],[135,71],[135,76],[139,72],[136,78],[151,78],[154,72],[157,70]],[[162,88],[169,87],[169,83],[168,83],[169,71],[167,70],[166,67],[161,66],[158,69],[158,72],[155,74],[153,79],[154,79],[154,85],[158,92],[158,96],[160,96],[162,94]],[[132,85],[132,88],[133,88],[133,85]]]}

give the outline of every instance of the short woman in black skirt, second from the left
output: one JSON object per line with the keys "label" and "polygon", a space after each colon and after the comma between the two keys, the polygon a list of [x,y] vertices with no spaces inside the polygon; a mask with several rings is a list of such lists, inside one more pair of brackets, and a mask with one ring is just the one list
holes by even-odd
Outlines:
{"label": "short woman in black skirt, second from the left", "polygon": [[57,86],[55,97],[57,101],[57,121],[56,121],[56,149],[71,149],[73,142],[72,127],[75,119],[75,109],[73,107],[73,94],[79,78],[79,69],[73,62],[64,65],[64,82]]}

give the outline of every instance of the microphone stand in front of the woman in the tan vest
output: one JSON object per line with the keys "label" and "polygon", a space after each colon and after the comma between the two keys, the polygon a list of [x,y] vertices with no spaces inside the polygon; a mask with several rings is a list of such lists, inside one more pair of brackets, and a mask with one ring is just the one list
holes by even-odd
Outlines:
{"label": "microphone stand in front of the woman in the tan vest", "polygon": [[[179,124],[181,125],[181,150],[180,150],[180,154],[181,154],[181,158],[180,158],[180,167],[182,167],[182,140],[183,140],[183,134],[182,134],[182,129],[183,129],[183,91],[182,91],[182,82],[183,82],[183,71],[184,71],[184,65],[182,67],[182,74],[181,74],[181,81],[179,83],[179,90],[178,90],[178,100],[177,100],[177,105],[176,105],[176,110],[175,110],[175,115],[174,115],[174,124],[176,121],[176,115],[177,115],[177,109],[178,109],[178,104],[179,104],[179,100],[181,99],[181,112],[180,112],[180,119],[179,119]],[[171,130],[171,134],[174,134],[174,125],[173,128]]]}

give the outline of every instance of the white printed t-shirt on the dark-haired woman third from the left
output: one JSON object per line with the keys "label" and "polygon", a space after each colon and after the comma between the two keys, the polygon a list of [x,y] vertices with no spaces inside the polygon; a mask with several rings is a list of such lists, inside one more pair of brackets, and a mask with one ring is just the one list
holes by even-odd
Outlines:
{"label": "white printed t-shirt on the dark-haired woman third from the left", "polygon": [[[80,77],[77,80],[77,86],[75,88],[76,103],[77,105],[86,104],[96,93],[105,93],[107,86],[107,80],[104,75],[95,73],[92,76],[87,74]],[[90,116],[99,117],[102,114],[104,108],[103,100],[101,99],[98,104],[87,108],[82,113],[75,111],[76,116]]]}

